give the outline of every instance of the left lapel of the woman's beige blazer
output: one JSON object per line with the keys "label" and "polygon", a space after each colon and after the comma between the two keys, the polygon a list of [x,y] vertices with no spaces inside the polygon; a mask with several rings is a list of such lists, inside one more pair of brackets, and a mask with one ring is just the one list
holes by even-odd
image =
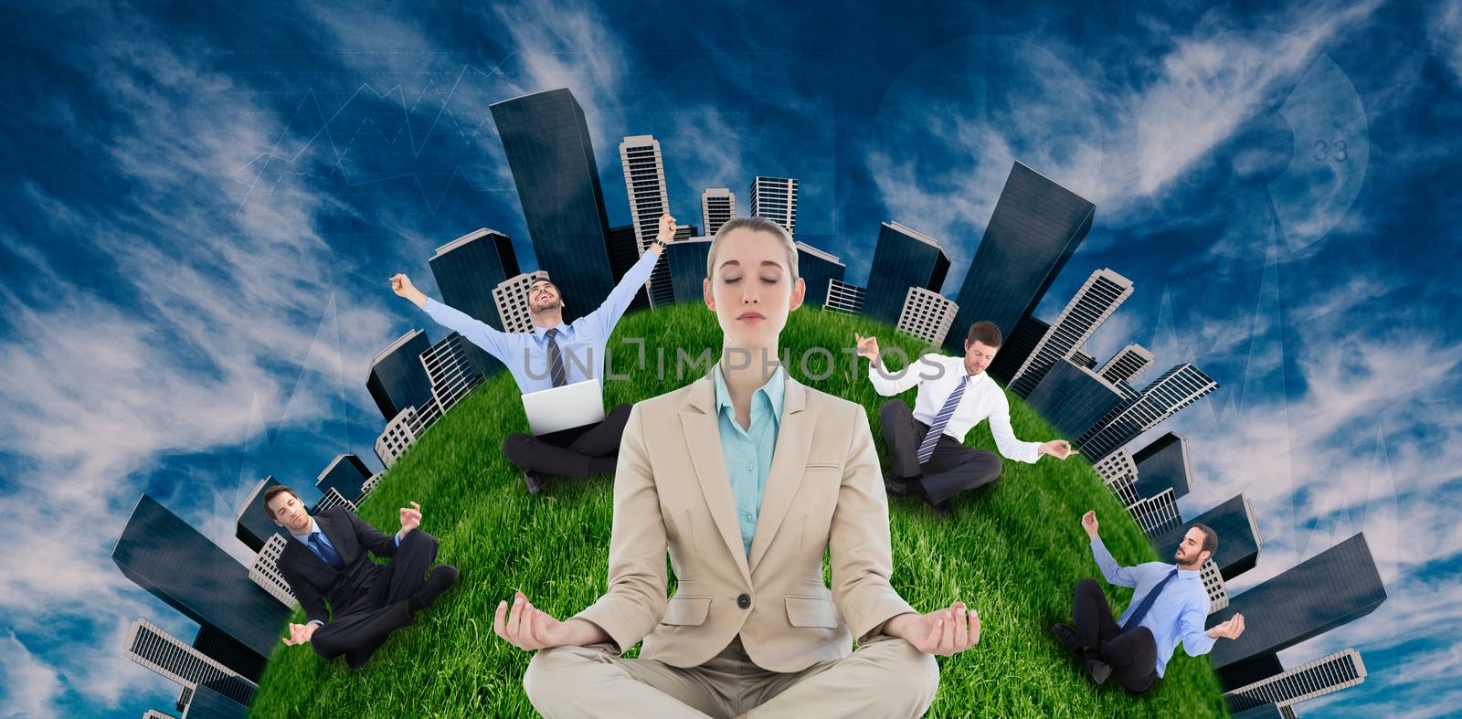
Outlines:
{"label": "left lapel of the woman's beige blazer", "polygon": [[[711,368],[715,371],[715,367]],[[721,427],[715,411],[715,387],[708,374],[690,387],[684,406],[680,409],[680,425],[684,430],[686,450],[690,466],[700,482],[706,509],[721,530],[721,539],[735,558],[737,567],[751,585],[751,570],[746,563],[746,547],[741,544],[741,525],[735,519],[735,497],[731,495],[731,478],[727,476],[725,454],[721,452]]]}

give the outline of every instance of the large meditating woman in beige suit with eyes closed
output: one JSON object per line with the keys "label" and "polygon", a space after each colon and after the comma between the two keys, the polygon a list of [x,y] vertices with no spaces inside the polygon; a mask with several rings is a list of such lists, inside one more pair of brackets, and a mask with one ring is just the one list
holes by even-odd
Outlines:
{"label": "large meditating woman in beige suit with eyes closed", "polygon": [[[538,650],[523,688],[548,718],[920,716],[939,685],[931,655],[974,646],[980,617],[963,602],[920,614],[890,586],[866,411],[776,362],[804,292],[787,231],[727,222],[706,273],[722,354],[630,412],[608,592],[567,621],[516,593],[494,631]],[[639,658],[621,656],[640,640]]]}

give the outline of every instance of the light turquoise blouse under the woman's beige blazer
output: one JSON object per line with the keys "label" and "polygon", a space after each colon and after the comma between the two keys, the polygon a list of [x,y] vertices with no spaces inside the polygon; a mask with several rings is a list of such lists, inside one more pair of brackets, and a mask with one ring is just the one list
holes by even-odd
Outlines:
{"label": "light turquoise blouse under the woman's beige blazer", "polygon": [[735,497],[741,545],[746,548],[747,557],[751,555],[756,517],[762,513],[766,475],[772,473],[776,431],[782,422],[784,371],[778,367],[772,373],[772,378],[751,393],[751,425],[746,430],[735,421],[735,405],[731,403],[731,390],[727,389],[727,380],[721,374],[721,362],[716,362],[713,371],[721,454],[727,462],[727,476],[731,478],[731,495]]}

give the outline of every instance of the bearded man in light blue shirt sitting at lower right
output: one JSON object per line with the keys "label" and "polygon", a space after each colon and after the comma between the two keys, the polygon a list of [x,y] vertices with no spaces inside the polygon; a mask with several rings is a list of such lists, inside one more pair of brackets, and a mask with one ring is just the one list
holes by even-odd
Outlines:
{"label": "bearded man in light blue shirt sitting at lower right", "polygon": [[1132,604],[1117,620],[1095,579],[1076,583],[1072,609],[1075,627],[1051,627],[1067,650],[1086,662],[1092,681],[1101,684],[1116,675],[1130,691],[1143,691],[1162,677],[1178,642],[1189,656],[1206,655],[1219,639],[1238,639],[1244,615],[1203,630],[1208,618],[1208,590],[1199,567],[1218,549],[1218,535],[1205,525],[1193,525],[1178,544],[1177,564],[1149,561],[1121,567],[1096,535],[1096,513],[1082,516],[1082,529],[1091,538],[1092,557],[1107,582],[1136,589]]}

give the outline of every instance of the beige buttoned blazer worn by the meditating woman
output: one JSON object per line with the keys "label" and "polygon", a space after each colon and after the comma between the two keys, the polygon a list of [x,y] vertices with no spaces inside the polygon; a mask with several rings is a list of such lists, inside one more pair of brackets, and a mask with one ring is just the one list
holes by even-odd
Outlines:
{"label": "beige buttoned blazer worn by the meditating woman", "polygon": [[[640,656],[674,666],[705,663],[738,633],[751,661],[778,672],[848,656],[854,637],[914,611],[889,585],[887,498],[867,412],[785,377],[749,558],[712,381],[708,373],[630,411],[614,471],[608,592],[576,617],[620,650],[643,639]],[[668,601],[667,547],[677,579]]]}

